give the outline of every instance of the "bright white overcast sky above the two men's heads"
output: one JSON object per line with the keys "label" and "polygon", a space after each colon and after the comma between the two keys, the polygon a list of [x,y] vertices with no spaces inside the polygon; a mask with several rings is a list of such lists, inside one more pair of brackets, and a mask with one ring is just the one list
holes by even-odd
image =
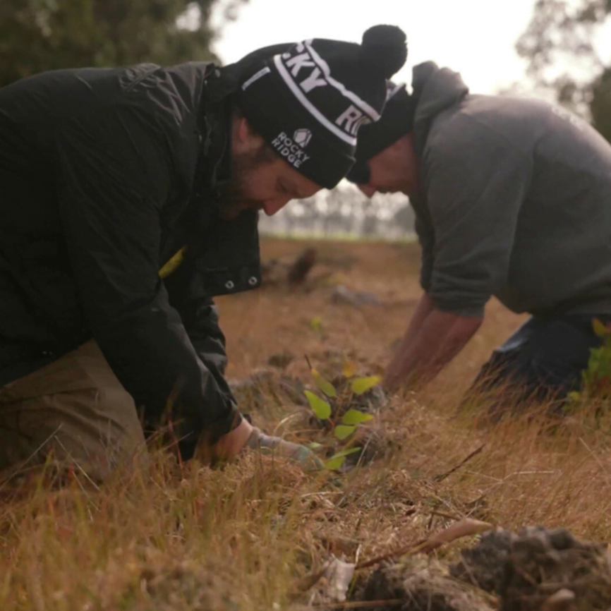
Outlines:
{"label": "bright white overcast sky above the two men's heads", "polygon": [[524,75],[514,43],[534,0],[250,0],[224,28],[214,49],[224,63],[258,47],[307,38],[360,42],[371,25],[399,25],[407,34],[408,66],[432,59],[463,75],[474,93],[494,93]]}

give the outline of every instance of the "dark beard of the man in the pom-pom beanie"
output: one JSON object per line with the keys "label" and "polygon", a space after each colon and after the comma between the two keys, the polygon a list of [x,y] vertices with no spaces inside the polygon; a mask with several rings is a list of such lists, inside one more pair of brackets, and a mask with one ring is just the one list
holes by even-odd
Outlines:
{"label": "dark beard of the man in the pom-pom beanie", "polygon": [[246,192],[250,176],[268,160],[263,157],[262,150],[243,153],[231,159],[231,179],[219,188],[219,217],[231,221],[244,210],[262,210],[264,202],[248,198]]}

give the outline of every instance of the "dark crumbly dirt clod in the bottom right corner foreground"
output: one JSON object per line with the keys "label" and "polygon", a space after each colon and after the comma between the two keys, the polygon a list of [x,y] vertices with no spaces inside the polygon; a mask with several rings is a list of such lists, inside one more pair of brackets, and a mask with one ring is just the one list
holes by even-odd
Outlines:
{"label": "dark crumbly dirt clod in the bottom right corner foreground", "polygon": [[572,598],[562,608],[611,607],[611,562],[606,546],[580,541],[561,528],[486,533],[478,545],[461,552],[461,561],[450,567],[450,573],[499,595],[501,611],[540,610],[559,591]]}

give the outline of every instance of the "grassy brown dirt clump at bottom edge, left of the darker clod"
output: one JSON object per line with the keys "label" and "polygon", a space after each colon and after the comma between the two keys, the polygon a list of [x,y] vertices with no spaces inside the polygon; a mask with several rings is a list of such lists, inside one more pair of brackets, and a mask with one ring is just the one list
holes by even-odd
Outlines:
{"label": "grassy brown dirt clump at bottom edge, left of the darker clod", "polygon": [[[395,564],[374,571],[356,600],[375,605],[363,611],[492,611],[485,593],[452,579],[438,563]],[[384,605],[382,601],[387,601]]]}

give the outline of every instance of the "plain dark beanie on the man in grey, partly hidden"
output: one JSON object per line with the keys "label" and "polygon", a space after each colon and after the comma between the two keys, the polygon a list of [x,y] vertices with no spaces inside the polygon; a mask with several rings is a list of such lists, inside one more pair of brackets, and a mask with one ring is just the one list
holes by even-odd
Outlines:
{"label": "plain dark beanie on the man in grey, partly hidden", "polygon": [[346,178],[353,183],[368,183],[369,159],[411,132],[415,113],[416,99],[409,95],[405,85],[388,83],[388,99],[382,117],[375,125],[363,126],[359,131],[356,163]]}

